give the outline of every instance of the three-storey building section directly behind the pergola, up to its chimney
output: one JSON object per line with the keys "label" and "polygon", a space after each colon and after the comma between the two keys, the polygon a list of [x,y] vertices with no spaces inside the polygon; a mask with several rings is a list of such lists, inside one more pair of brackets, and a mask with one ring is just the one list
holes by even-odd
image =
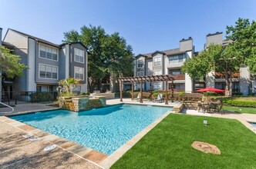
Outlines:
{"label": "three-storey building section directly behind the pergola, up to its chimney", "polygon": [[[191,37],[180,40],[180,48],[166,51],[154,51],[148,54],[137,55],[134,61],[134,75],[173,75],[175,78],[174,91],[193,92],[192,80],[189,75],[182,74],[180,68],[187,58],[194,55],[193,39]],[[170,81],[171,82],[171,81]],[[170,88],[171,85],[169,85]],[[146,82],[143,90],[164,90],[163,82]],[[135,85],[135,89],[140,89],[140,84]]]}

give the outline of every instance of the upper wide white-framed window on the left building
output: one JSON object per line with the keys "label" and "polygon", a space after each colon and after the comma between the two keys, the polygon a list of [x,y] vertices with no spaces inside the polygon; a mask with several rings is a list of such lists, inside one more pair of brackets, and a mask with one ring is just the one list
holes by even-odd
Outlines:
{"label": "upper wide white-framed window on the left building", "polygon": [[58,61],[58,49],[47,45],[39,45],[39,57]]}

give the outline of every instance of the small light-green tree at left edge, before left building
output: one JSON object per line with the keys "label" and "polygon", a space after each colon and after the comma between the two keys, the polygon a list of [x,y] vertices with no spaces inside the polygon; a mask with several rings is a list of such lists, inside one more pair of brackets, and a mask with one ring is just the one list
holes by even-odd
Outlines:
{"label": "small light-green tree at left edge, before left building", "polygon": [[0,72],[2,75],[6,75],[8,78],[22,76],[23,70],[29,67],[20,63],[20,60],[20,56],[13,55],[12,50],[0,46]]}

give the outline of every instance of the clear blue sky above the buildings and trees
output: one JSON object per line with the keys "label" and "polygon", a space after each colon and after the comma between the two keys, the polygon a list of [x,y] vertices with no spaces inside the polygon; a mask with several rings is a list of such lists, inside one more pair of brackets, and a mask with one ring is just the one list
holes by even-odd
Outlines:
{"label": "clear blue sky above the buildings and trees", "polygon": [[225,32],[237,18],[256,20],[255,0],[0,0],[3,35],[13,28],[60,44],[63,32],[83,25],[101,25],[120,32],[135,55],[178,48],[192,37],[196,51],[206,35]]}

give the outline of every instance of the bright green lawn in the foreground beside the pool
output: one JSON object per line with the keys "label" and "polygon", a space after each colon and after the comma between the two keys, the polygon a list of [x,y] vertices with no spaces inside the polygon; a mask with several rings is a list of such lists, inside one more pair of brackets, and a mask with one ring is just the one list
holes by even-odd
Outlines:
{"label": "bright green lawn in the foreground beside the pool", "polygon": [[[193,141],[221,155],[197,151]],[[256,168],[256,134],[236,120],[170,114],[111,168]]]}

